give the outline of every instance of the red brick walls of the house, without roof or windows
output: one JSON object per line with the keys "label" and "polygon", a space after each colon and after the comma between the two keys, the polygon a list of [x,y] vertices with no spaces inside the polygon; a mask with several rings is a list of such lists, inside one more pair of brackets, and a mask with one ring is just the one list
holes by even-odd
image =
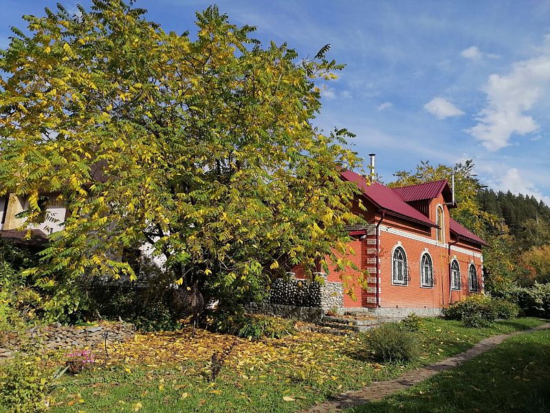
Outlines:
{"label": "red brick walls of the house, without roof or windows", "polygon": [[[369,271],[368,288],[362,289],[357,282],[350,283],[355,300],[350,295],[344,294],[344,307],[373,307],[376,305],[376,255],[378,253],[379,266],[379,300],[382,307],[393,308],[439,308],[448,306],[449,302],[457,301],[470,295],[468,285],[468,270],[470,263],[476,267],[478,282],[483,286],[483,261],[480,257],[474,257],[473,253],[481,253],[481,250],[474,245],[464,242],[456,243],[450,237],[450,215],[445,205],[443,196],[429,202],[429,218],[435,222],[435,211],[438,205],[443,207],[444,219],[444,242],[436,244],[436,229],[428,229],[425,226],[413,224],[391,215],[386,215],[380,227],[378,248],[375,245],[375,224],[380,220],[381,215],[374,213],[372,204],[365,202],[367,211],[354,207],[355,213],[360,213],[371,224],[371,229],[366,231],[364,240],[360,235],[354,237],[351,248],[354,255],[348,258],[360,269]],[[404,231],[395,233],[395,231]],[[412,238],[416,239],[412,239]],[[395,246],[400,243],[404,248],[407,257],[408,275],[410,277],[406,286],[394,285],[392,282],[392,254]],[[448,245],[462,248],[465,251],[450,251]],[[434,286],[431,288],[421,287],[420,263],[423,253],[427,251],[432,258]],[[461,290],[450,290],[450,260],[456,259],[461,270]],[[303,277],[302,268],[294,268],[297,277]],[[330,282],[338,282],[342,278],[358,277],[358,271],[348,270],[344,273],[334,271],[334,266],[329,264]]]}

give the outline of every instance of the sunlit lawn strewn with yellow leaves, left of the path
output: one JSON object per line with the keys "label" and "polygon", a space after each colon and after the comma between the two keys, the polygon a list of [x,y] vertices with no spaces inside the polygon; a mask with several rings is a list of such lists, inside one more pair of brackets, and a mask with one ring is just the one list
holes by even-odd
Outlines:
{"label": "sunlit lawn strewn with yellow leaves, left of the path", "polygon": [[357,337],[299,333],[259,342],[238,339],[212,383],[205,378],[210,357],[234,337],[199,330],[191,339],[189,329],[141,334],[111,348],[101,368],[65,375],[50,395],[50,411],[296,412],[333,394],[444,359],[484,337],[540,324],[521,318],[472,329],[457,321],[424,319],[422,358],[406,365],[369,361]]}

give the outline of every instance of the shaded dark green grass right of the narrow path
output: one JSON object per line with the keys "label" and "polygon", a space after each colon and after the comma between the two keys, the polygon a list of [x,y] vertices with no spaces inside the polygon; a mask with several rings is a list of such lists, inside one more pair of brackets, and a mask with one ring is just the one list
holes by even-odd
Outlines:
{"label": "shaded dark green grass right of the narrow path", "polygon": [[550,412],[550,331],[512,337],[458,368],[347,411]]}

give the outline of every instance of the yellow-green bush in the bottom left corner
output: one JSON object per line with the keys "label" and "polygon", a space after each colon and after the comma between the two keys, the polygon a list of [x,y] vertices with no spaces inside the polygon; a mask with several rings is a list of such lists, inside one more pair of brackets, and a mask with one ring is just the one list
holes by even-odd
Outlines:
{"label": "yellow-green bush in the bottom left corner", "polygon": [[17,355],[0,366],[0,406],[8,412],[34,413],[46,409],[47,376],[36,359]]}

